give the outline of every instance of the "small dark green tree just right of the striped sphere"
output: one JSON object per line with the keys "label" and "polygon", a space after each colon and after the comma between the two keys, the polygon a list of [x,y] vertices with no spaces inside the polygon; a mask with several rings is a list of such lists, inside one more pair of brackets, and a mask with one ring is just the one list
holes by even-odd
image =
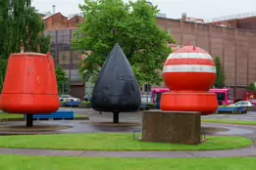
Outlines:
{"label": "small dark green tree just right of the striped sphere", "polygon": [[215,64],[216,64],[217,76],[216,76],[216,82],[214,86],[217,88],[224,88],[226,76],[225,76],[225,71],[223,69],[223,66],[221,64],[221,60],[219,57],[216,57]]}

